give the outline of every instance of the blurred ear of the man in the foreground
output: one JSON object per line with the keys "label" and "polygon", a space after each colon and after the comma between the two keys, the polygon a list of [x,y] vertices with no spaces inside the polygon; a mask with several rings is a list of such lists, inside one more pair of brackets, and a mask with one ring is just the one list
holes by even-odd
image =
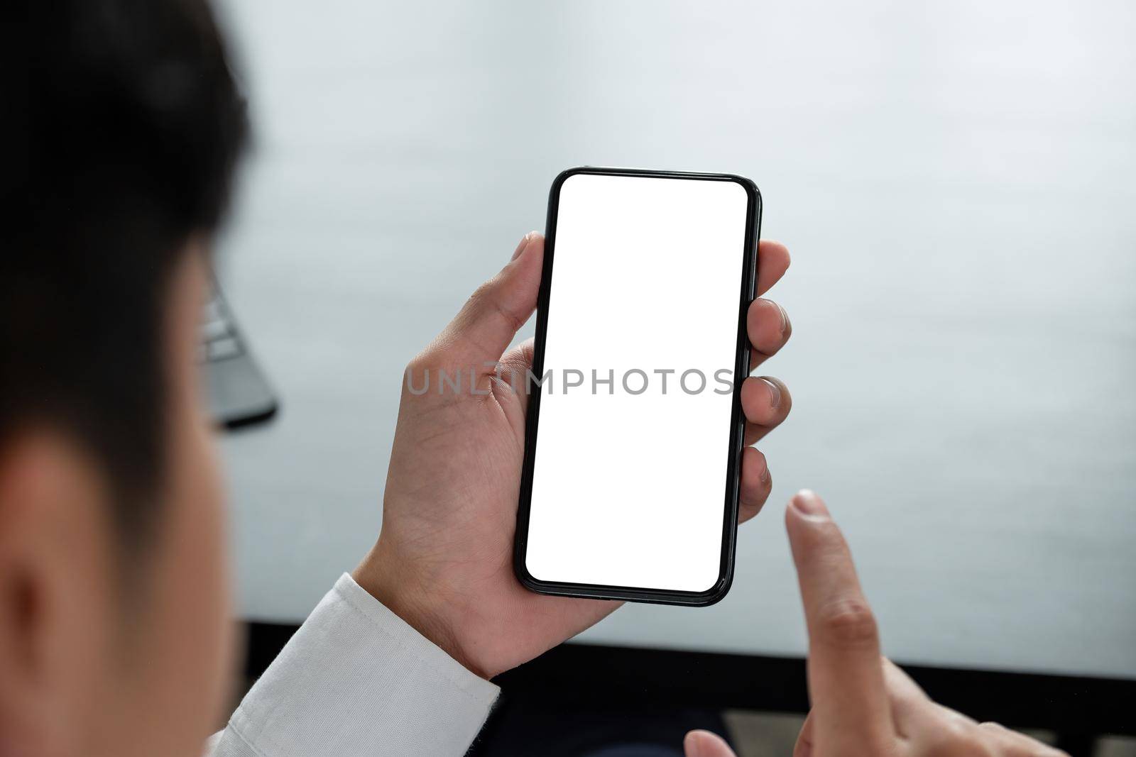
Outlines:
{"label": "blurred ear of the man in the foreground", "polygon": [[97,727],[116,586],[102,490],[61,434],[0,446],[0,755],[74,751]]}

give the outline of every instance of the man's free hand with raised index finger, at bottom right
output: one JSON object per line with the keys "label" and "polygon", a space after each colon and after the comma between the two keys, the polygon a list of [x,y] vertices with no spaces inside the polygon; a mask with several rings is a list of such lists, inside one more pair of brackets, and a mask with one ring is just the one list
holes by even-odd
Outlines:
{"label": "man's free hand with raised index finger, at bottom right", "polygon": [[[880,656],[876,620],[841,530],[816,494],[785,512],[809,628],[812,710],[793,757],[1054,757],[1064,752],[932,701]],[[717,735],[692,731],[686,757],[734,757]]]}

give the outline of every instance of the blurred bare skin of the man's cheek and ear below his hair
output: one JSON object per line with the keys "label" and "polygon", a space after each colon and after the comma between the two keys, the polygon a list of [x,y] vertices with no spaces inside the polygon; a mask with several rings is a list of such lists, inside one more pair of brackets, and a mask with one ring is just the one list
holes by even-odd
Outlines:
{"label": "blurred bare skin of the man's cheek and ear below his hair", "polygon": [[[200,755],[233,659],[224,495],[198,386],[198,239],[169,283],[154,528],[118,540],[108,481],[66,428],[0,447],[0,756]],[[124,379],[125,380],[125,379]]]}

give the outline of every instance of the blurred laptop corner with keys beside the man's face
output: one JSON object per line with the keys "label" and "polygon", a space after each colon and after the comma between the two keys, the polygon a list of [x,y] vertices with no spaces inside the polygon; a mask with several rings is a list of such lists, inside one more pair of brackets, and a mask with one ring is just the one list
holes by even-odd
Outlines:
{"label": "blurred laptop corner with keys beside the man's face", "polygon": [[249,426],[276,414],[279,404],[216,284],[201,323],[200,365],[217,426]]}

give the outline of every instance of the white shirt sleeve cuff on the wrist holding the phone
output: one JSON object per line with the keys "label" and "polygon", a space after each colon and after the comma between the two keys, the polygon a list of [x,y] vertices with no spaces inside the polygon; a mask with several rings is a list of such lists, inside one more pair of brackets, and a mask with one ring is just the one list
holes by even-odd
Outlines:
{"label": "white shirt sleeve cuff on the wrist holding the phone", "polygon": [[206,754],[460,756],[499,691],[344,573]]}

